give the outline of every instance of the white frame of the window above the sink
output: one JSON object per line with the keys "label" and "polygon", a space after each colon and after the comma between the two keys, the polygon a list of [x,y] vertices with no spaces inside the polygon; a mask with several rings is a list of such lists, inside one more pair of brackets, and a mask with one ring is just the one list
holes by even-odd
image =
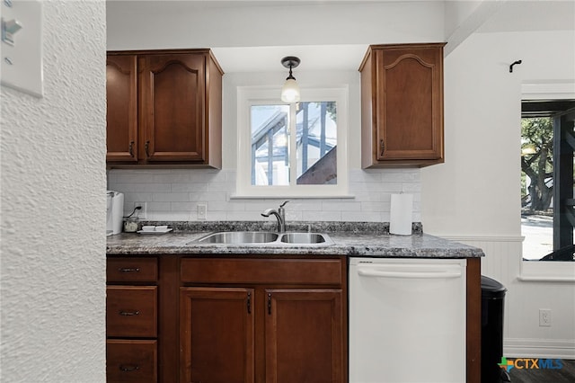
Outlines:
{"label": "white frame of the window above the sink", "polygon": [[[280,88],[264,86],[239,86],[237,88],[237,174],[235,198],[342,198],[349,197],[348,179],[348,108],[347,86],[333,88],[301,88],[300,102],[337,102],[337,184],[333,185],[252,185],[252,130],[250,126],[252,105],[287,104],[279,99]],[[290,120],[295,120],[291,108]],[[296,147],[296,135],[289,135],[289,146]],[[293,152],[293,150],[292,150]],[[290,153],[293,164],[295,153]],[[291,168],[292,166],[290,166]],[[293,171],[290,169],[291,174]]]}

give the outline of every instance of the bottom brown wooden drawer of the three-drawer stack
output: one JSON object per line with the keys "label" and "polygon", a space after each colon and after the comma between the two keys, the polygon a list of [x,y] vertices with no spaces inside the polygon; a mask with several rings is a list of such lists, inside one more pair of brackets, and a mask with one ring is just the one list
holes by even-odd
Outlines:
{"label": "bottom brown wooden drawer of the three-drawer stack", "polygon": [[157,341],[108,340],[106,377],[108,383],[155,383]]}

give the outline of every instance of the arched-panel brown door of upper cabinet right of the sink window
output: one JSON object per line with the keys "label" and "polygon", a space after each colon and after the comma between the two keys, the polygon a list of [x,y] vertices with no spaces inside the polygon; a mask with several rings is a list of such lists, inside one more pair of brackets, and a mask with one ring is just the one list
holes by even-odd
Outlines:
{"label": "arched-panel brown door of upper cabinet right of the sink window", "polygon": [[376,49],[376,159],[443,157],[443,49]]}

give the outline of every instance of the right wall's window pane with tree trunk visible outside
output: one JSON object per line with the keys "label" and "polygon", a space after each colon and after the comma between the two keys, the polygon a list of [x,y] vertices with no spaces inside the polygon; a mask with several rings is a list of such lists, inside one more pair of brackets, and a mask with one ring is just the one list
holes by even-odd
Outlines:
{"label": "right wall's window pane with tree trunk visible outside", "polygon": [[575,100],[521,102],[525,261],[575,261]]}

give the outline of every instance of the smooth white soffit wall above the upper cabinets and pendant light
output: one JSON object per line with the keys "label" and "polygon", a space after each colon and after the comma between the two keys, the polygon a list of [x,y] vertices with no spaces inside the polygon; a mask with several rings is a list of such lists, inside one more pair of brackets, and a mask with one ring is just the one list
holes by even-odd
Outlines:
{"label": "smooth white soffit wall above the upper cabinets and pendant light", "polygon": [[249,8],[229,4],[199,8],[192,1],[113,1],[108,4],[108,49],[382,44],[444,39],[441,2],[324,3],[274,1]]}

